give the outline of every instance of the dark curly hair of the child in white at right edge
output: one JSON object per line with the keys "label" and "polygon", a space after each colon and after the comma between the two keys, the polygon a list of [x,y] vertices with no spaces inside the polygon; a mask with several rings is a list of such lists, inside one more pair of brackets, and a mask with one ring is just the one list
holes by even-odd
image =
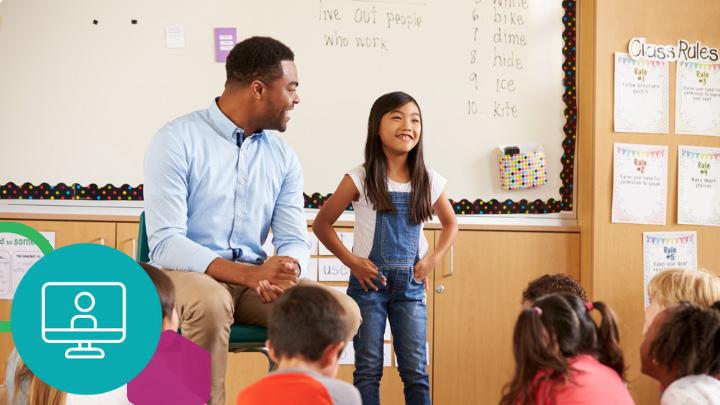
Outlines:
{"label": "dark curly hair of the child in white at right edge", "polygon": [[683,301],[670,311],[650,345],[650,357],[678,378],[720,372],[720,302],[701,308]]}

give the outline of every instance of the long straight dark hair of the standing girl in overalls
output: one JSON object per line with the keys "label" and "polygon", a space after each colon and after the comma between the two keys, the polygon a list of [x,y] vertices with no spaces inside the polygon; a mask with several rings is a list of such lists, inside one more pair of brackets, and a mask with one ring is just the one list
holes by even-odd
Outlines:
{"label": "long straight dark hair of the standing girl in overalls", "polygon": [[[380,96],[370,109],[368,135],[365,143],[365,195],[376,211],[397,212],[390,201],[387,189],[387,158],[380,140],[380,121],[383,115],[407,103],[420,105],[412,96],[401,91]],[[422,113],[420,113],[420,140],[408,153],[410,170],[410,220],[420,224],[432,218],[430,179],[423,159]]]}

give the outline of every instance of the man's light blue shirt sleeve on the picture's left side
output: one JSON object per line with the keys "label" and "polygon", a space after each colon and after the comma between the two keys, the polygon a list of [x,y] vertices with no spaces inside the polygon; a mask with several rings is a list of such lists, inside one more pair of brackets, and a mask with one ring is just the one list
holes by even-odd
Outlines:
{"label": "man's light blue shirt sleeve on the picture's left side", "polygon": [[174,127],[166,125],[145,154],[145,223],[150,260],[172,270],[205,272],[219,257],[187,238],[188,156]]}

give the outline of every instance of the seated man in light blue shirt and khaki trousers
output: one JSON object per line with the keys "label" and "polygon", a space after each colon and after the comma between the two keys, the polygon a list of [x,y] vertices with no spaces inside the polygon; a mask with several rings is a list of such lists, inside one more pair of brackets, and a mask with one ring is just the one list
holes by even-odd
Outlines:
{"label": "seated man in light blue shirt and khaki trousers", "polygon": [[[293,52],[252,37],[225,64],[225,91],[206,110],[166,124],[145,155],[150,259],[177,289],[185,337],[210,352],[210,404],[225,404],[230,325],[267,325],[272,302],[307,274],[303,176],[277,135],[300,102]],[[272,228],[276,256],[262,245]],[[318,283],[314,283],[319,285]],[[333,292],[357,331],[357,304]]]}

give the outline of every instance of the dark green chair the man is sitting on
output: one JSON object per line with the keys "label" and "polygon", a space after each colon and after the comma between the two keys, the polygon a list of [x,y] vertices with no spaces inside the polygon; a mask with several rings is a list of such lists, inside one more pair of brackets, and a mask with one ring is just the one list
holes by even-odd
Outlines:
{"label": "dark green chair the man is sitting on", "polygon": [[[148,243],[147,230],[145,229],[145,213],[140,214],[140,228],[138,229],[138,262],[147,262],[150,260],[150,245]],[[181,332],[182,333],[182,332]],[[231,325],[230,326],[230,345],[228,351],[233,353],[240,352],[257,352],[267,357],[269,367],[272,370],[275,363],[268,354],[265,347],[267,340],[267,328],[256,325]]]}

